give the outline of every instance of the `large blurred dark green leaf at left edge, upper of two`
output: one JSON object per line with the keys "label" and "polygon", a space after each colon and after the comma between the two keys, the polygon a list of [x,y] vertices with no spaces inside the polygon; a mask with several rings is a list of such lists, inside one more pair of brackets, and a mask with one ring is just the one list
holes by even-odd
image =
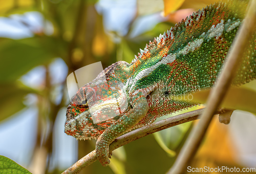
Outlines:
{"label": "large blurred dark green leaf at left edge, upper of two", "polygon": [[33,67],[57,57],[60,45],[46,36],[0,41],[0,83],[13,82]]}

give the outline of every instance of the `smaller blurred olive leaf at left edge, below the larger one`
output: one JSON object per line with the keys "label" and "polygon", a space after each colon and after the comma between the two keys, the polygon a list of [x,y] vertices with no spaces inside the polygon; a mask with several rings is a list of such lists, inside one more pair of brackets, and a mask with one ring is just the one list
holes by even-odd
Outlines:
{"label": "smaller blurred olive leaf at left edge, below the larger one", "polygon": [[30,88],[20,87],[16,83],[0,84],[0,121],[25,108],[24,96],[34,92]]}

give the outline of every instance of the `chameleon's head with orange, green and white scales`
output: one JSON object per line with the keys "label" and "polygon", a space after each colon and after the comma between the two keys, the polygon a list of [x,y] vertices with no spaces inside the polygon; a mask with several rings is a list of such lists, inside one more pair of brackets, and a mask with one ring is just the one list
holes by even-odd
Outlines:
{"label": "chameleon's head with orange, green and white scales", "polygon": [[111,81],[81,87],[67,108],[65,133],[80,140],[97,139],[127,110],[122,87]]}

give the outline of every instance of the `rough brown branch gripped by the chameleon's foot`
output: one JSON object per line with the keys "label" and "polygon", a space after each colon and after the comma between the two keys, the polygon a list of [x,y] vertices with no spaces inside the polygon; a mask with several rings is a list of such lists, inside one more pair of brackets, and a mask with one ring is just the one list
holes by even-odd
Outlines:
{"label": "rough brown branch gripped by the chameleon's foot", "polygon": [[[114,151],[118,147],[121,147],[129,142],[142,138],[146,135],[150,135],[155,132],[158,132],[170,127],[174,127],[185,122],[196,120],[198,119],[198,116],[202,113],[203,110],[204,109],[198,109],[198,110],[183,113],[177,116],[169,117],[161,121],[154,122],[151,125],[147,125],[142,128],[133,130],[129,133],[126,133],[118,137],[114,142],[110,144],[110,152]],[[217,112],[216,114],[218,113],[219,112]],[[82,168],[89,166],[95,161],[97,161],[97,158],[94,150],[90,154],[78,160],[75,164],[73,164],[67,170],[63,171],[63,173],[77,173],[81,171]]]}

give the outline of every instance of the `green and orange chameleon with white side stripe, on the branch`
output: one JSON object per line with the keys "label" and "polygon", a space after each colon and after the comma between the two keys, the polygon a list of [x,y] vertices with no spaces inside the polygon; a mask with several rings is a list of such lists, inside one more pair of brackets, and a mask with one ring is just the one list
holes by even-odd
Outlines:
{"label": "green and orange chameleon with white side stripe, on the branch", "polygon": [[[97,139],[96,155],[106,166],[109,145],[118,136],[193,106],[172,98],[214,85],[246,7],[240,1],[199,10],[150,41],[131,64],[119,61],[106,68],[73,96],[66,134]],[[252,35],[233,85],[255,79],[255,41]]]}

